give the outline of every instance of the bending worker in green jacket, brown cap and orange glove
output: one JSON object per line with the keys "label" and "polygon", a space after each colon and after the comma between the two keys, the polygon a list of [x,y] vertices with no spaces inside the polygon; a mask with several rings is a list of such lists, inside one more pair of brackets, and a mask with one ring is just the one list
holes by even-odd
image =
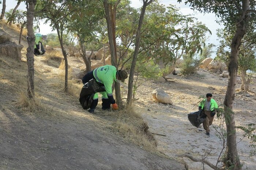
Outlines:
{"label": "bending worker in green jacket, brown cap and orange glove", "polygon": [[[102,109],[110,110],[110,105],[112,104],[112,108],[117,110],[118,106],[113,97],[112,85],[113,82],[124,82],[128,77],[128,74],[125,70],[116,70],[115,66],[105,65],[94,69],[93,71],[87,73],[83,78],[83,84],[86,84],[91,79],[95,79],[97,82],[103,84],[105,86],[106,91],[100,92],[102,95]],[[98,93],[95,93],[93,96],[93,101],[91,103],[90,109],[88,110],[90,113],[94,113],[95,108],[98,104]]]}

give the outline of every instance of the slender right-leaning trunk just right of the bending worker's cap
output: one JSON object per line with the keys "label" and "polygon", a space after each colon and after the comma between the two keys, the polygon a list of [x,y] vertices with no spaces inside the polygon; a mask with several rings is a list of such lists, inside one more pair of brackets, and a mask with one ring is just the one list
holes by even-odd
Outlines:
{"label": "slender right-leaning trunk just right of the bending worker's cap", "polygon": [[147,1],[143,2],[142,11],[140,13],[139,26],[138,26],[137,33],[136,33],[136,43],[135,43],[135,49],[134,49],[134,53],[133,53],[132,66],[131,66],[131,70],[130,70],[129,83],[128,83],[128,95],[127,95],[127,105],[128,106],[132,105],[133,75],[134,75],[138,51],[139,51],[139,47],[140,47],[140,30],[142,27],[146,7],[147,7]]}

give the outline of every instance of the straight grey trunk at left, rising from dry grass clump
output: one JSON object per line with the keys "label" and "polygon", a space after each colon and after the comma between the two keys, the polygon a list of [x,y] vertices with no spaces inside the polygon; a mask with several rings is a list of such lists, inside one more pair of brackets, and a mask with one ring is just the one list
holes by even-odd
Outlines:
{"label": "straight grey trunk at left, rising from dry grass clump", "polygon": [[33,20],[35,12],[36,0],[26,1],[27,5],[27,96],[29,98],[34,98],[35,87],[34,87],[34,46],[35,46],[35,35],[33,31]]}

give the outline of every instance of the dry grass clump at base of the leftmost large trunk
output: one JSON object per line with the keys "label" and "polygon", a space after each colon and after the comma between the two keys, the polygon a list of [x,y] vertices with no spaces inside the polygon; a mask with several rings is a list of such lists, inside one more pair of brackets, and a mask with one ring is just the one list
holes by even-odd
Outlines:
{"label": "dry grass clump at base of the leftmost large trunk", "polygon": [[[38,95],[37,95],[38,96]],[[53,108],[50,108],[44,103],[44,98],[33,98],[30,99],[25,92],[17,93],[17,105],[26,111],[36,113],[41,116],[53,116]]]}

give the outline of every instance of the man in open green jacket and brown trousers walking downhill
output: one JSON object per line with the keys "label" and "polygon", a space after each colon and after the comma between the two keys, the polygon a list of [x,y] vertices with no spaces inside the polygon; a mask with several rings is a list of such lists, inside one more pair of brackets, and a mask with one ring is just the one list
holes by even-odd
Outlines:
{"label": "man in open green jacket and brown trousers walking downhill", "polygon": [[203,110],[203,113],[207,116],[206,119],[203,121],[203,127],[204,127],[204,130],[206,130],[206,135],[208,136],[210,136],[209,126],[212,124],[217,108],[218,108],[218,104],[214,99],[212,99],[211,93],[207,93],[206,98],[204,98],[199,103],[198,109]]}

